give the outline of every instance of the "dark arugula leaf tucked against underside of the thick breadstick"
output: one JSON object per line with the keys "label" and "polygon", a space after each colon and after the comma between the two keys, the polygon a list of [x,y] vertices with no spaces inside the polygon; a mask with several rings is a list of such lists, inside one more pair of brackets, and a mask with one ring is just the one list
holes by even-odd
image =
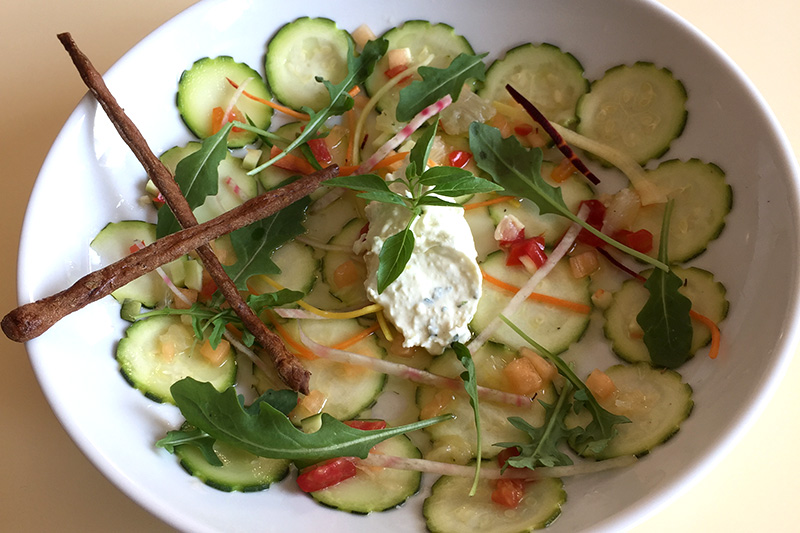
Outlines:
{"label": "dark arugula leaf tucked against underside of the thick breadstick", "polygon": [[272,261],[272,254],[279,246],[305,231],[303,220],[308,203],[308,198],[303,198],[230,234],[236,263],[224,268],[239,290],[247,290],[250,276],[280,273],[280,268]]}

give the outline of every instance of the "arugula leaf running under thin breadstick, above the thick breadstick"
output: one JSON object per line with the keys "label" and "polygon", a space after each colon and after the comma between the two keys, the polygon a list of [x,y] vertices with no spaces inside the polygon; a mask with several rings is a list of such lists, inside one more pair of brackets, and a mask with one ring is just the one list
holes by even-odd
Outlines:
{"label": "arugula leaf running under thin breadstick, above the thick breadstick", "polygon": [[[217,167],[228,155],[228,133],[233,124],[226,124],[219,132],[203,139],[200,149],[184,157],[175,168],[175,181],[180,187],[189,207],[203,205],[206,198],[217,194],[219,172]],[[160,239],[179,231],[181,225],[168,206],[158,210],[156,238]]]}

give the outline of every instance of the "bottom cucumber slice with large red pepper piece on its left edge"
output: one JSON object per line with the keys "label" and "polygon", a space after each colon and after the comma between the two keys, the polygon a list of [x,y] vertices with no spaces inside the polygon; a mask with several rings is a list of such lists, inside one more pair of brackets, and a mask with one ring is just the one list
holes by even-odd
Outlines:
{"label": "bottom cucumber slice with large red pepper piece on its left edge", "polygon": [[[405,435],[375,446],[372,453],[420,458],[419,449]],[[319,503],[351,513],[368,514],[393,509],[419,491],[422,473],[392,468],[359,470],[355,477],[312,492]]]}

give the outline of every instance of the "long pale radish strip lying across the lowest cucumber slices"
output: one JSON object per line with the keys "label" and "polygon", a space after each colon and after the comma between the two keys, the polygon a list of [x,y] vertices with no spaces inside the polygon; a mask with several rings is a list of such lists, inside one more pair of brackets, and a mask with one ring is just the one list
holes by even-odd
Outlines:
{"label": "long pale radish strip lying across the lowest cucumber slices", "polygon": [[[538,467],[535,470],[529,468],[507,468],[501,473],[499,466],[481,466],[480,477],[482,479],[540,479],[545,477],[569,477],[586,474],[595,474],[606,470],[623,468],[636,462],[633,455],[623,455],[605,461],[585,461],[568,466]],[[426,472],[429,474],[440,474],[443,476],[474,477],[474,466],[455,465],[452,463],[442,463],[440,461],[429,461],[427,459],[416,459],[412,457],[397,457],[393,455],[380,455],[371,453],[366,459],[359,459],[358,463],[364,466],[377,466],[381,468],[393,468],[395,470],[413,470],[415,472]]]}

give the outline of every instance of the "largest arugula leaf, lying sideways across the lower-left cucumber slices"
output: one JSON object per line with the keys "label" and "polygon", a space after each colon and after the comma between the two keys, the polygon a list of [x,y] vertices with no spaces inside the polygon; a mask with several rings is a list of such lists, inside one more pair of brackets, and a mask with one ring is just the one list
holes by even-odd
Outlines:
{"label": "largest arugula leaf, lying sideways across the lower-left cucumber slices", "polygon": [[218,392],[210,383],[184,378],[170,390],[190,424],[216,440],[272,459],[317,462],[333,457],[364,458],[383,440],[451,418],[444,415],[406,426],[364,431],[323,414],[317,432],[303,433],[266,401],[259,400],[245,409],[233,387]]}

